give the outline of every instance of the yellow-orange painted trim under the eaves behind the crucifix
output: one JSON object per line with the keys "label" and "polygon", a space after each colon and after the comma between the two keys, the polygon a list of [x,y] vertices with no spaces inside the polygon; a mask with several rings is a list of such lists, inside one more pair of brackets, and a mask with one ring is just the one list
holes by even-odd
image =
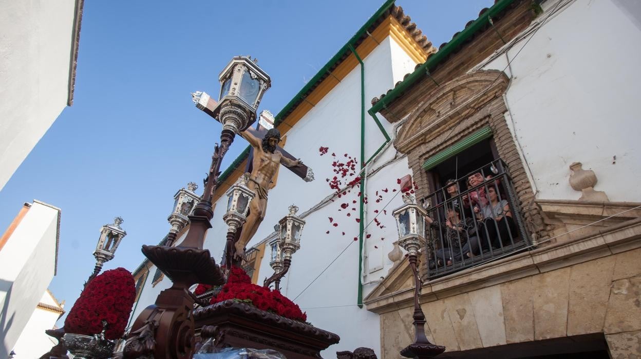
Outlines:
{"label": "yellow-orange painted trim under the eaves behind the crucifix", "polygon": [[[385,20],[379,24],[379,26],[372,31],[371,36],[368,36],[361,42],[360,45],[356,48],[358,56],[364,59],[369,55],[376,47],[385,40],[388,36],[391,39],[401,46],[401,48],[408,54],[410,58],[417,64],[425,62],[428,58],[429,53],[427,53],[423,48],[420,47],[418,42],[416,42],[410,33],[401,25],[392,15],[389,15]],[[329,91],[333,90],[336,85],[338,85],[339,80],[343,80],[347,74],[351,73],[353,69],[358,66],[358,60],[353,53],[349,54],[338,66],[331,71],[331,74],[327,76],[319,85],[310,93],[303,102],[297,105],[296,109],[290,112],[289,116],[285,118],[280,125],[278,125],[278,130],[285,136],[290,128],[294,127],[296,123],[303,118],[317,103],[320,102]],[[338,80],[337,80],[338,79]],[[219,188],[214,192],[213,200],[218,200],[224,193],[231,187],[238,178],[244,173],[243,170],[247,166],[247,160],[243,161],[238,168],[236,168],[221,184]],[[243,170],[239,170],[239,168]]]}

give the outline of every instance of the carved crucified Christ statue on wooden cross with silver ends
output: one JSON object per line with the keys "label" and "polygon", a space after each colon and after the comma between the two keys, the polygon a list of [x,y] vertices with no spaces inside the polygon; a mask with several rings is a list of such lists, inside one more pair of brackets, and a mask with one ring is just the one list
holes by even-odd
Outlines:
{"label": "carved crucified Christ statue on wooden cross with silver ends", "polygon": [[[213,117],[213,109],[217,101],[213,100],[204,92],[192,94],[192,100],[196,103],[198,109],[203,110],[206,114]],[[247,160],[247,172],[249,172],[249,181],[247,187],[254,192],[254,198],[249,203],[249,214],[247,220],[237,232],[237,240],[234,245],[233,259],[240,262],[244,258],[244,249],[249,240],[256,234],[260,223],[265,218],[267,209],[267,193],[270,184],[276,173],[278,173],[279,164],[283,164],[288,170],[292,171],[301,179],[310,182],[314,179],[311,168],[303,164],[303,161],[297,159],[285,151],[278,143],[281,141],[281,134],[277,128],[273,127],[273,118],[267,111],[263,111],[259,116],[257,128],[249,127],[238,134],[249,142],[252,147],[251,156]],[[269,129],[268,129],[269,128]]]}

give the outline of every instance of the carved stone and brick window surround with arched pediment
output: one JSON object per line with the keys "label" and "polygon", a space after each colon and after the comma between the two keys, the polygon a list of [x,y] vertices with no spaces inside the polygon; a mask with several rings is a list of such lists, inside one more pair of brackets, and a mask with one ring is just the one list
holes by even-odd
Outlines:
{"label": "carved stone and brick window surround with arched pediment", "polygon": [[[535,194],[512,138],[504,114],[508,111],[503,94],[509,79],[497,70],[474,71],[444,83],[422,96],[394,141],[395,148],[408,156],[409,167],[422,198],[432,188],[422,164],[432,155],[469,136],[482,127],[492,128],[497,155],[510,168],[520,213],[527,229],[537,238],[547,238]],[[423,265],[427,261],[422,261]],[[425,273],[423,268],[423,273]]]}

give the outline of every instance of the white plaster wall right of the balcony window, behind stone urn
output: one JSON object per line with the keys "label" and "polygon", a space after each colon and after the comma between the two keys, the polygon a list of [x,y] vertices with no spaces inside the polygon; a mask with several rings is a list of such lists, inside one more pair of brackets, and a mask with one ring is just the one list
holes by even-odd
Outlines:
{"label": "white plaster wall right of the balcony window, behind stone urn", "polygon": [[[568,183],[569,165],[583,162],[597,175],[595,189],[610,200],[641,202],[635,190],[641,175],[641,30],[633,18],[610,0],[574,1],[516,58],[524,41],[508,51],[514,58],[508,106],[537,198],[578,199],[581,193]],[[506,64],[503,55],[485,69]]]}

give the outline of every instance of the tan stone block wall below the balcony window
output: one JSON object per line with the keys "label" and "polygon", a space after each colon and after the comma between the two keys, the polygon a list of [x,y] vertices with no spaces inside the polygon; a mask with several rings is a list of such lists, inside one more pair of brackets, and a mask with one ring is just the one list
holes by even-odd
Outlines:
{"label": "tan stone block wall below the balcony window", "polygon": [[[604,333],[612,358],[641,357],[641,249],[425,302],[429,340],[465,351]],[[409,303],[408,303],[409,304]],[[381,354],[413,340],[412,307],[381,314]]]}

